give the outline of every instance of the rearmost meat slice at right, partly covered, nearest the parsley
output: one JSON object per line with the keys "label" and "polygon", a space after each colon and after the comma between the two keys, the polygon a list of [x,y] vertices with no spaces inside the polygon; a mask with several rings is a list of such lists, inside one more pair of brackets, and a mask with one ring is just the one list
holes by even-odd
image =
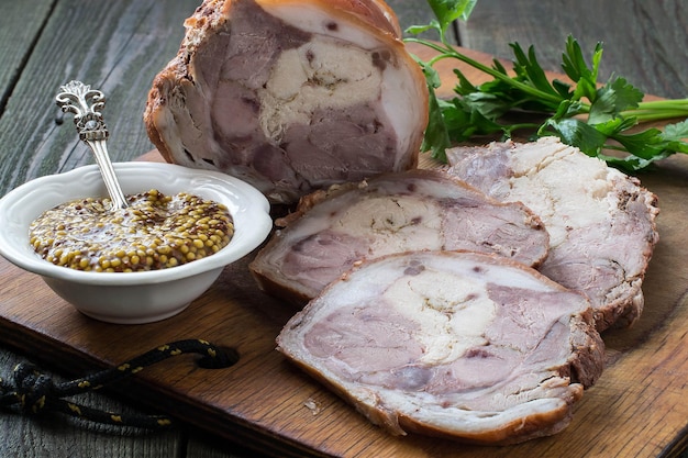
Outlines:
{"label": "rearmost meat slice at right, partly covered, nearest the parsley", "polygon": [[639,319],[658,208],[637,179],[556,137],[457,147],[447,157],[451,174],[542,219],[551,249],[540,271],[586,293],[600,332]]}

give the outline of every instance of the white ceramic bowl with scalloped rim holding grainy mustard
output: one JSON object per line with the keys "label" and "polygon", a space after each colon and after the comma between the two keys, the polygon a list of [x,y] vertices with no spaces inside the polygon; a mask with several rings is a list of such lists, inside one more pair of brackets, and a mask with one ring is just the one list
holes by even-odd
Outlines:
{"label": "white ceramic bowl with scalloped rim holding grainy mustard", "polygon": [[[181,266],[142,272],[93,272],[55,266],[34,253],[29,226],[45,210],[85,197],[107,197],[97,166],[36,178],[0,199],[0,255],[43,277],[63,299],[93,319],[148,323],[173,316],[201,295],[229,264],[255,249],[273,226],[267,199],[236,178],[159,163],[118,163],[125,194],[189,192],[228,206],[234,236],[220,252]],[[40,305],[37,305],[40,306]]]}

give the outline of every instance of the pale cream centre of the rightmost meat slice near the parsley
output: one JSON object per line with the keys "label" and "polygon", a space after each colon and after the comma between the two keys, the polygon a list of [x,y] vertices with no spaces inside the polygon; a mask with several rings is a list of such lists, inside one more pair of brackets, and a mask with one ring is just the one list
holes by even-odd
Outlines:
{"label": "pale cream centre of the rightmost meat slice near the parsley", "polygon": [[[553,247],[566,241],[573,228],[588,227],[613,213],[615,199],[610,176],[617,170],[562,145],[552,154],[551,143],[522,148],[512,164],[510,201],[521,201],[545,222]],[[545,192],[534,193],[533,189]]]}

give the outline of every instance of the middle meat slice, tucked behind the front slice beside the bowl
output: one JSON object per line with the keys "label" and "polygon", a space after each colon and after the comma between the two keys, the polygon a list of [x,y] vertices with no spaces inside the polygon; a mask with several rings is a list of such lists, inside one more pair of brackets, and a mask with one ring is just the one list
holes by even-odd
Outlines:
{"label": "middle meat slice, tucked behind the front slice beside the bowl", "polygon": [[303,304],[356,262],[407,250],[477,250],[529,266],[547,256],[550,236],[533,212],[444,171],[335,188],[303,199],[258,253],[249,267],[263,290]]}

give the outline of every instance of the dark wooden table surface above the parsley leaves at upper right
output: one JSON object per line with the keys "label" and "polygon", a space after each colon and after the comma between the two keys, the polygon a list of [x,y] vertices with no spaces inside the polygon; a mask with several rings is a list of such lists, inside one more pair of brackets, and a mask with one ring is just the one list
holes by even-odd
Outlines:
{"label": "dark wooden table surface above the parsley leaves at upper right", "polygon": [[[566,37],[586,56],[603,42],[600,80],[625,77],[645,93],[688,97],[688,4],[675,0],[479,1],[460,23],[462,45],[511,59],[509,43],[535,46],[541,65],[562,71]],[[589,60],[588,60],[589,62]]]}

